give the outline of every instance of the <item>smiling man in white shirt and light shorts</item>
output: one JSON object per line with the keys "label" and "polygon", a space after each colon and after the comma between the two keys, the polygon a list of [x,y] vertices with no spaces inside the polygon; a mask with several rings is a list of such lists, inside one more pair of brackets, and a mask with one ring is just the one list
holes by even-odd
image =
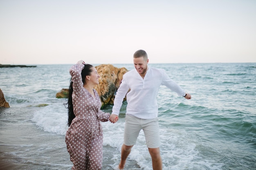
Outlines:
{"label": "smiling man in white shirt and light shorts", "polygon": [[146,144],[152,159],[153,170],[162,170],[160,156],[160,137],[158,125],[157,93],[160,85],[165,85],[178,95],[191,99],[179,85],[168,77],[163,69],[148,67],[148,55],[138,50],[133,55],[135,69],[124,74],[109,120],[112,123],[119,119],[119,111],[126,95],[126,123],[124,127],[124,144],[121,148],[121,161],[118,168],[124,165],[132,146],[136,143],[141,129],[144,130]]}

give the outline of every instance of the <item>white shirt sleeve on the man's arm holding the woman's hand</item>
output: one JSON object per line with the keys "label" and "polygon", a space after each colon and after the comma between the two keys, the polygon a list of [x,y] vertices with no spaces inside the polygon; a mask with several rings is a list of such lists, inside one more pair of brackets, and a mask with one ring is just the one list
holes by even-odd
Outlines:
{"label": "white shirt sleeve on the man's arm holding the woman's hand", "polygon": [[124,75],[124,79],[122,79],[122,82],[121,82],[119,88],[117,89],[117,94],[115,95],[114,106],[112,108],[112,114],[119,115],[120,108],[124,101],[124,97],[126,96],[126,93],[128,92],[129,88],[130,87],[128,86],[128,84],[126,82],[125,75]]}

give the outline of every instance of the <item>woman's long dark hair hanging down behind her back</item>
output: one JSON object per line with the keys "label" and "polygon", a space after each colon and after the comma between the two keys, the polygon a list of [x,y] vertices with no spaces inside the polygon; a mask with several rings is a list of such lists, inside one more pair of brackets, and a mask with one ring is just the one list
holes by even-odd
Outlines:
{"label": "woman's long dark hair hanging down behind her back", "polygon": [[[81,77],[82,77],[82,82],[83,84],[85,84],[85,77],[87,75],[91,75],[92,73],[92,65],[91,64],[84,64],[84,68],[81,71]],[[70,88],[69,88],[69,94],[68,94],[68,100],[67,103],[65,105],[67,105],[67,110],[68,110],[68,123],[67,125],[70,126],[72,120],[76,117],[74,115],[74,109],[73,109],[73,101],[72,101],[72,93],[73,93],[73,82],[72,82],[72,78],[70,79]]]}

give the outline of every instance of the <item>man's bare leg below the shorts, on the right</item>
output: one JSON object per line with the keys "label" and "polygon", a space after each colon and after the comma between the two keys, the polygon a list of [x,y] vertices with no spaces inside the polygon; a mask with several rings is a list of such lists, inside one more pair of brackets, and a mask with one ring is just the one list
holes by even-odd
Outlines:
{"label": "man's bare leg below the shorts, on the right", "polygon": [[162,170],[162,158],[159,148],[148,148],[152,159],[153,170]]}

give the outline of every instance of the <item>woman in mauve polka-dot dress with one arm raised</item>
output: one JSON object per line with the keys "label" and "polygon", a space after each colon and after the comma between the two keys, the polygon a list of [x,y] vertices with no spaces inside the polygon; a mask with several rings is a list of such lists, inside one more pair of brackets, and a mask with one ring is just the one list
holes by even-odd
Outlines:
{"label": "woman in mauve polka-dot dress with one arm raised", "polygon": [[101,100],[93,88],[99,84],[99,74],[82,60],[70,68],[68,99],[67,151],[72,170],[101,170],[103,131],[100,121],[108,121],[109,113],[100,110]]}

